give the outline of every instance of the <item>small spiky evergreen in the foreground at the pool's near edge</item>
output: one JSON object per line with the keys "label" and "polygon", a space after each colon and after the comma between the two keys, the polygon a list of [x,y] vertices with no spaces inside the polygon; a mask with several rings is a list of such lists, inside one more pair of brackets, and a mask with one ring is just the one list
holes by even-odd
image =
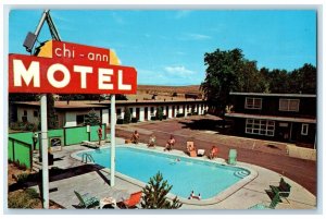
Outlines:
{"label": "small spiky evergreen in the foreground at the pool's near edge", "polygon": [[172,203],[167,200],[166,195],[171,191],[172,185],[167,181],[163,181],[163,175],[158,172],[156,175],[150,178],[149,183],[142,188],[142,208],[146,209],[177,209],[183,206],[177,196]]}

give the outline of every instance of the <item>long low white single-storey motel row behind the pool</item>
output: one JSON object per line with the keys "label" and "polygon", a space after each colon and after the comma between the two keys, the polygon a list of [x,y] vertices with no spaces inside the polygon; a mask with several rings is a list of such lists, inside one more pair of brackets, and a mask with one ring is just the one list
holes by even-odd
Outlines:
{"label": "long low white single-storey motel row behind the pool", "polygon": [[[16,101],[10,106],[14,110],[12,122],[29,122],[39,124],[40,106],[39,101]],[[204,114],[208,111],[205,100],[176,99],[176,100],[116,100],[116,120],[120,123],[124,119],[125,110],[129,109],[131,119],[135,122],[155,120],[159,108],[162,108],[164,119],[184,118],[190,114]],[[101,118],[103,124],[111,123],[110,101],[54,101],[57,121],[59,127],[72,127],[84,125],[85,118],[91,110]]]}

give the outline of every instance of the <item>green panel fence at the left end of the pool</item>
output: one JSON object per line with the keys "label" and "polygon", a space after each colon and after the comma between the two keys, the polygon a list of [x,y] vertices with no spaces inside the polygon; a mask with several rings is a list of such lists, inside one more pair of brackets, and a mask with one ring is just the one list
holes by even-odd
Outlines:
{"label": "green panel fence at the left end of the pool", "polygon": [[[99,141],[98,125],[90,126],[90,132],[87,132],[87,126],[63,127],[59,130],[49,130],[49,147],[51,147],[52,138],[60,138],[61,146],[80,144],[83,141]],[[106,124],[102,125],[102,139],[106,136]],[[62,144],[63,143],[63,144]],[[12,133],[9,134],[8,141],[8,159],[18,161],[27,168],[33,167],[33,132]],[[35,145],[35,149],[39,149],[39,141]]]}

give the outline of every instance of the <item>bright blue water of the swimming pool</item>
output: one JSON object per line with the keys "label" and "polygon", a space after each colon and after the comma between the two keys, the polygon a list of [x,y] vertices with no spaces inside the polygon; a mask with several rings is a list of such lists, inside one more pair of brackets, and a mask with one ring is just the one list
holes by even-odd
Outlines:
{"label": "bright blue water of the swimming pool", "polygon": [[[130,147],[116,147],[115,169],[117,172],[148,183],[160,171],[163,179],[173,185],[171,193],[188,198],[191,191],[202,199],[216,196],[237,183],[250,172],[242,168],[222,166],[214,162],[193,160]],[[85,153],[78,153],[82,157]],[[95,162],[110,168],[111,148],[87,151]],[[179,158],[180,161],[176,161]]]}

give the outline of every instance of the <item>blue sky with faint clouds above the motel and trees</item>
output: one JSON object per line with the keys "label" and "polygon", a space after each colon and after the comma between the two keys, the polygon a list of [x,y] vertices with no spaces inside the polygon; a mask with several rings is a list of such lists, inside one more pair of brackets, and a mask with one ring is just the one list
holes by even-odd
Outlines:
{"label": "blue sky with faint clouds above the motel and trees", "polygon": [[[35,32],[41,10],[11,10],[9,52]],[[199,85],[204,53],[239,48],[258,68],[316,66],[315,10],[51,10],[63,41],[114,49],[142,85]],[[38,41],[51,39],[45,25]],[[38,45],[38,44],[37,44]]]}

